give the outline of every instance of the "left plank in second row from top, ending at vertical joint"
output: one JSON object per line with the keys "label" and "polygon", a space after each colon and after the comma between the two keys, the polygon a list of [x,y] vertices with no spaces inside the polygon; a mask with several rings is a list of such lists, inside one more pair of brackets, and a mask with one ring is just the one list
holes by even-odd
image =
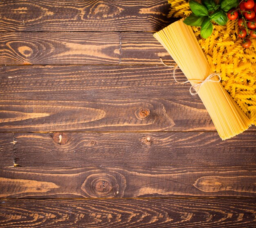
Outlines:
{"label": "left plank in second row from top, ending at vertical joint", "polygon": [[0,65],[119,64],[119,33],[2,32]]}

